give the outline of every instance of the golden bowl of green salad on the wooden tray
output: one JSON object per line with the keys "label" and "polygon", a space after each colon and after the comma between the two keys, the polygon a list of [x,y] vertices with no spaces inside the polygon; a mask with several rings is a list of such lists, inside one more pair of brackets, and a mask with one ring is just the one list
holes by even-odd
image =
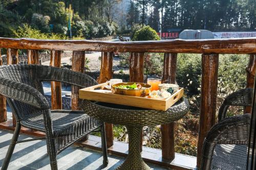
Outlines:
{"label": "golden bowl of green salad on the wooden tray", "polygon": [[114,94],[131,95],[137,97],[144,97],[151,92],[151,85],[146,83],[128,82],[118,83],[111,87]]}

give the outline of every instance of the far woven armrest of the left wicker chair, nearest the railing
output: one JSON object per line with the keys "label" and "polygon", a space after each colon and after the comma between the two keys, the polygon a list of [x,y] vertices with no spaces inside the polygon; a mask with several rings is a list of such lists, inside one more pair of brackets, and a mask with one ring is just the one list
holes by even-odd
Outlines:
{"label": "far woven armrest of the left wicker chair, nearest the railing", "polygon": [[58,81],[82,88],[97,84],[92,77],[69,69],[37,65],[37,71],[38,79],[41,81]]}

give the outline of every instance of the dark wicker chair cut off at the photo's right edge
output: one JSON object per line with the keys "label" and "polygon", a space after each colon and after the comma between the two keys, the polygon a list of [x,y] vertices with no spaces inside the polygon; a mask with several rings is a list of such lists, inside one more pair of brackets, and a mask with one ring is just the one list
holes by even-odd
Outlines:
{"label": "dark wicker chair cut off at the photo's right edge", "polygon": [[226,117],[229,106],[251,106],[253,89],[228,95],[219,110],[219,123],[211,128],[202,149],[200,169],[246,169],[250,114]]}

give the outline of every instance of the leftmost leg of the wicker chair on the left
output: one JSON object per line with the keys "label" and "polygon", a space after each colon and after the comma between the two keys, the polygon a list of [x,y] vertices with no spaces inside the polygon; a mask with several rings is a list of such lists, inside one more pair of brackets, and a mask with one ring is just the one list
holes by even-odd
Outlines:
{"label": "leftmost leg of the wicker chair on the left", "polygon": [[21,127],[20,123],[17,121],[16,122],[16,128],[15,128],[15,131],[14,131],[13,136],[12,136],[12,141],[11,141],[11,143],[9,145],[9,148],[8,148],[5,160],[4,160],[3,164],[2,164],[1,170],[6,170],[8,168],[8,165],[10,163],[10,160],[11,160],[11,157],[12,157],[12,154],[13,154],[16,142],[18,140],[18,135],[19,135],[20,127]]}

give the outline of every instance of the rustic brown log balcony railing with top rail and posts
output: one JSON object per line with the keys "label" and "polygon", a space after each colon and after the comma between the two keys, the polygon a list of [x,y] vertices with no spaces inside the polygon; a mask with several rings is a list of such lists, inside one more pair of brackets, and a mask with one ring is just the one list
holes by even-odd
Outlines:
{"label": "rustic brown log balcony railing with top rail and posts", "polygon": [[[203,140],[215,124],[217,78],[219,54],[249,54],[247,87],[253,86],[256,64],[256,38],[209,39],[209,40],[170,40],[106,42],[89,40],[37,40],[0,38],[0,48],[7,48],[8,64],[18,62],[18,49],[28,50],[28,63],[38,64],[38,50],[51,51],[51,66],[60,67],[63,50],[73,51],[72,70],[83,72],[85,52],[102,52],[100,76],[102,83],[112,78],[113,52],[131,52],[130,81],[143,82],[144,53],[165,53],[162,82],[174,83],[177,68],[177,53],[202,54],[201,114],[198,139],[197,165],[200,166]],[[1,56],[1,55],[0,55]],[[1,57],[0,57],[0,65]],[[52,109],[61,109],[61,84],[52,82]],[[72,109],[78,110],[78,88],[72,88]],[[249,111],[250,108],[247,108]],[[0,97],[0,123],[7,120],[6,102]],[[162,159],[170,161],[175,157],[174,124],[161,125]],[[113,145],[113,126],[106,125],[108,147]],[[177,167],[176,167],[177,168]],[[182,168],[179,168],[182,169]]]}

